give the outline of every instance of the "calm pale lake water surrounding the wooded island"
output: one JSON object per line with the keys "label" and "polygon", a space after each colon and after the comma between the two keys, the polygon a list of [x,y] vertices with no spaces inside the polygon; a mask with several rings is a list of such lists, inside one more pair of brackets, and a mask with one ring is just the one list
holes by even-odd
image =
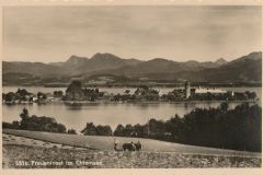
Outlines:
{"label": "calm pale lake water surrounding the wooded island", "polygon": [[[30,92],[36,93],[49,92],[53,93],[55,90],[65,91],[65,88],[24,88]],[[16,92],[18,88],[4,86],[3,92]],[[106,91],[110,93],[124,93],[126,89],[100,89],[100,91]],[[132,92],[135,89],[129,89]],[[167,93],[173,89],[158,89],[160,94]],[[260,97],[262,90],[261,88],[222,88],[227,91],[244,92],[254,91]],[[229,107],[233,108],[240,103],[230,103]],[[46,105],[2,105],[2,118],[3,121],[20,120],[20,113],[23,107],[26,107],[31,115],[54,117],[58,122],[64,124],[67,128],[73,128],[77,131],[82,130],[87,122],[94,122],[95,125],[110,125],[114,130],[118,124],[146,124],[149,118],[157,118],[167,120],[175,114],[181,117],[184,114],[190,113],[196,107],[218,107],[218,102],[198,102],[198,103],[160,103],[160,104],[84,104],[81,106],[70,106],[64,103],[52,103]]]}

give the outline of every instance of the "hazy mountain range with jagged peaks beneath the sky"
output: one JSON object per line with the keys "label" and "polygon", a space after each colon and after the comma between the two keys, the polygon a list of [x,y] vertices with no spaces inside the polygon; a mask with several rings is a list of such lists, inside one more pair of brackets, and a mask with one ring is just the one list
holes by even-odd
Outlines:
{"label": "hazy mountain range with jagged peaks beneath the sky", "polygon": [[[190,60],[179,62],[164,58],[148,61],[123,59],[112,54],[95,54],[91,58],[72,55],[65,62],[2,62],[3,84],[14,79],[43,79],[50,81],[69,80],[72,77],[107,74],[127,79],[148,80],[190,80],[195,82],[261,82],[262,52],[251,52],[232,61],[219,58],[216,61],[198,62]],[[12,80],[10,80],[12,79]]]}

